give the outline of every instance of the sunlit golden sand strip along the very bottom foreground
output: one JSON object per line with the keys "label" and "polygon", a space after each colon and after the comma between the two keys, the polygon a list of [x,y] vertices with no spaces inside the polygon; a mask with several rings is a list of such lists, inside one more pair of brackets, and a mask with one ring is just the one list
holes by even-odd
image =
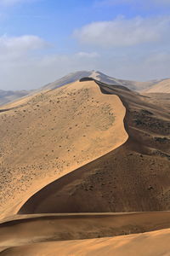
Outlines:
{"label": "sunlit golden sand strip along the very bottom foreground", "polygon": [[[169,255],[170,229],[139,235],[106,237],[81,241],[52,241],[30,246],[11,247],[1,256],[161,256]],[[166,253],[167,252],[167,253]]]}

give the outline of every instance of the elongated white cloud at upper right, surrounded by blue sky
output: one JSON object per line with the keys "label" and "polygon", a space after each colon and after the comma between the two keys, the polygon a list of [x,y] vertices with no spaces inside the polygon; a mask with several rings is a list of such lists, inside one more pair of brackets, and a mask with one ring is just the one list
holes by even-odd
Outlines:
{"label": "elongated white cloud at upper right, surrounded by blue sky", "polygon": [[122,47],[161,41],[167,37],[169,28],[169,17],[119,17],[82,26],[74,32],[74,36],[82,44]]}

